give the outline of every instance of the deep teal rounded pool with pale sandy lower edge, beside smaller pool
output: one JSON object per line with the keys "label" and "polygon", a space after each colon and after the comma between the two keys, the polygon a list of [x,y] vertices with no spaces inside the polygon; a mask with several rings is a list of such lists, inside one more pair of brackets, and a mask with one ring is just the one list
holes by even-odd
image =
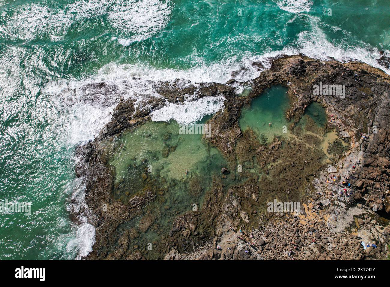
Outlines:
{"label": "deep teal rounded pool with pale sandy lower edge, beside smaller pool", "polygon": [[275,136],[288,135],[285,112],[290,107],[290,99],[287,90],[283,86],[272,86],[254,98],[250,107],[242,111],[239,119],[241,131],[251,128],[260,140],[268,143]]}

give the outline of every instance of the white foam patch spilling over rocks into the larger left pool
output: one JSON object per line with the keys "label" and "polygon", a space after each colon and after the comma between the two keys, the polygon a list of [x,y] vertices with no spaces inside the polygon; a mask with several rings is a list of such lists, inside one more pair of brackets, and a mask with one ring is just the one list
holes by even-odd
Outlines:
{"label": "white foam patch spilling over rocks into the larger left pool", "polygon": [[207,96],[198,100],[182,104],[170,103],[157,111],[151,112],[152,121],[170,121],[174,119],[177,123],[195,123],[204,116],[214,114],[223,109],[223,96]]}

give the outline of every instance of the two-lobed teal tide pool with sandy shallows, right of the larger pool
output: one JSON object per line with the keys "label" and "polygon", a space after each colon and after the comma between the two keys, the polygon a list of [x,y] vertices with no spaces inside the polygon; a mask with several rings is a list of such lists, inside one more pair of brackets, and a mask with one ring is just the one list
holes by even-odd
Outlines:
{"label": "two-lobed teal tide pool with sandy shallows, right of the larger pool", "polygon": [[[325,108],[319,102],[310,103],[302,117],[289,130],[289,122],[286,111],[290,108],[291,100],[287,94],[288,88],[272,86],[265,89],[259,96],[252,100],[250,107],[243,108],[239,126],[241,131],[252,129],[262,144],[269,144],[274,137],[294,137],[312,148],[324,153],[324,160],[332,157],[328,147],[339,141],[338,133],[332,127],[328,127],[328,116]],[[271,123],[271,125],[269,125]],[[349,144],[340,141],[342,146]]]}

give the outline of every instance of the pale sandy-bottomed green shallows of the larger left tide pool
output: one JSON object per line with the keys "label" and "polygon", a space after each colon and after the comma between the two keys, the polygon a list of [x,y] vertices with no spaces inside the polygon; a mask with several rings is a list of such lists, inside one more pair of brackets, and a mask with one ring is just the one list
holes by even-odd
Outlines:
{"label": "pale sandy-bottomed green shallows of the larger left tide pool", "polygon": [[[133,133],[121,137],[119,147],[109,164],[115,166],[116,182],[126,177],[129,164],[148,162],[150,172],[181,180],[196,173],[200,164],[222,168],[222,157],[216,148],[202,143],[202,134],[179,134],[179,125],[148,122]],[[122,147],[121,147],[122,144]],[[223,164],[222,164],[223,165]],[[188,175],[185,176],[185,171]]]}

